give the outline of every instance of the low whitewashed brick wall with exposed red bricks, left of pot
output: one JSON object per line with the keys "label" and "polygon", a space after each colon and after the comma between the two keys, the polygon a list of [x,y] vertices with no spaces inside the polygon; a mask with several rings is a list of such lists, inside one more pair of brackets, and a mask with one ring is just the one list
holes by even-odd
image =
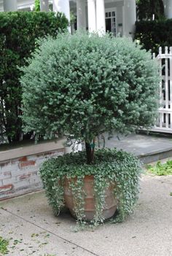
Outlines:
{"label": "low whitewashed brick wall with exposed red bricks, left of pot", "polygon": [[[19,158],[0,159],[0,201],[42,189],[39,166],[47,158],[64,154],[64,148],[24,155]],[[1,155],[0,155],[1,156]]]}

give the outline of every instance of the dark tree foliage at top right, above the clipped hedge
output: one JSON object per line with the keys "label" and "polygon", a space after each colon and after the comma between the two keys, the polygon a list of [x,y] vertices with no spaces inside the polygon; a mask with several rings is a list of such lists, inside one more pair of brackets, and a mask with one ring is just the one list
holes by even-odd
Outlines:
{"label": "dark tree foliage at top right, above the clipped hedge", "polygon": [[138,20],[152,20],[165,18],[163,0],[137,0],[137,18]]}

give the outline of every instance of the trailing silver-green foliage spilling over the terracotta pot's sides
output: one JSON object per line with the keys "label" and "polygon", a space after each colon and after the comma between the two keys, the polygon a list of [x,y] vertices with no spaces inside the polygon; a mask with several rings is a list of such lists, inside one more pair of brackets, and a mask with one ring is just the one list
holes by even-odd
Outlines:
{"label": "trailing silver-green foliage spilling over the terracotta pot's sides", "polygon": [[74,155],[67,154],[47,160],[40,169],[47,198],[55,214],[59,214],[65,204],[63,198],[65,179],[66,177],[71,179],[74,211],[79,224],[85,224],[83,179],[85,175],[94,175],[96,211],[93,225],[98,225],[104,220],[102,215],[105,206],[104,193],[109,185],[114,185],[114,195],[119,201],[118,214],[113,221],[125,220],[125,217],[133,211],[138,199],[140,173],[140,163],[133,155],[108,149],[95,151],[95,163],[92,165],[86,164],[85,152],[77,152]]}

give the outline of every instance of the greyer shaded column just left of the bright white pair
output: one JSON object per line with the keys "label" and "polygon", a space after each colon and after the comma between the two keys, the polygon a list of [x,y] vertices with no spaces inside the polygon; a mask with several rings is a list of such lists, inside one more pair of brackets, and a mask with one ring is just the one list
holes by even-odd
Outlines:
{"label": "greyer shaded column just left of the bright white pair", "polygon": [[85,0],[77,0],[77,29],[86,29]]}

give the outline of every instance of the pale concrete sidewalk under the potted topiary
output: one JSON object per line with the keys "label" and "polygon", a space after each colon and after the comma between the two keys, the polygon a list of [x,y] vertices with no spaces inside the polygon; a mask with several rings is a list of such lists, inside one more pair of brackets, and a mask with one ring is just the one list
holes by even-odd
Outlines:
{"label": "pale concrete sidewalk under the potted topiary", "polygon": [[74,233],[69,214],[54,217],[44,193],[0,203],[0,236],[15,256],[171,256],[172,176],[141,178],[136,211],[121,224]]}

